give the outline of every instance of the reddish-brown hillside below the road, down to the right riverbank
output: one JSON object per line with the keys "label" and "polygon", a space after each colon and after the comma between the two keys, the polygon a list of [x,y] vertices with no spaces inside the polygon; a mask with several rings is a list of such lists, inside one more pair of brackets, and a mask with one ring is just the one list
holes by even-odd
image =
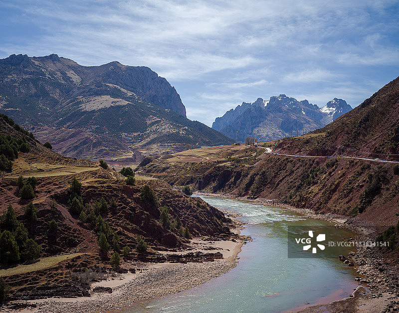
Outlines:
{"label": "reddish-brown hillside below the road, down to the right riverbank", "polygon": [[[264,148],[225,146],[154,159],[139,171],[175,186],[274,199],[316,212],[356,216],[376,225],[399,220],[399,166],[340,157],[287,157]],[[189,155],[190,153],[190,155]],[[187,157],[184,157],[187,156]],[[188,156],[196,156],[195,162]],[[362,214],[357,214],[363,212]]]}

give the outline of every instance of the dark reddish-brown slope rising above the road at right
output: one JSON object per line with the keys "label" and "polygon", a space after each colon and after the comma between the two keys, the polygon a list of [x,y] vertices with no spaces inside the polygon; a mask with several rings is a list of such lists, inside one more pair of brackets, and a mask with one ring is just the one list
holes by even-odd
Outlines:
{"label": "dark reddish-brown slope rising above the road at right", "polygon": [[399,78],[360,106],[307,136],[283,141],[280,153],[399,159]]}

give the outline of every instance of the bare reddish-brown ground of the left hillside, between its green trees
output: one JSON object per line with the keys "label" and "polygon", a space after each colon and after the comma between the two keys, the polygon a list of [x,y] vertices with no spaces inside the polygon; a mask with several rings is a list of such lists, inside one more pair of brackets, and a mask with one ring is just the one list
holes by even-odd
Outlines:
{"label": "bare reddish-brown ground of the left hillside, between its green trees", "polygon": [[[13,137],[24,136],[0,119],[0,134]],[[80,271],[110,269],[110,256],[113,253],[112,236],[107,254],[99,254],[97,244],[98,228],[95,222],[83,222],[80,217],[68,210],[69,184],[72,177],[82,183],[81,195],[85,203],[94,205],[104,198],[108,209],[100,211],[104,221],[113,233],[120,237],[122,249],[132,250],[127,260],[164,260],[158,251],[186,249],[190,240],[176,228],[167,229],[160,222],[162,206],[169,208],[169,218],[173,221],[179,216],[183,227],[188,227],[193,236],[230,236],[228,227],[220,221],[230,220],[214,207],[197,197],[189,197],[158,179],[136,175],[136,183],[127,186],[125,178],[113,169],[103,169],[96,162],[60,156],[33,139],[26,138],[29,153],[19,153],[13,161],[12,172],[1,172],[0,176],[0,216],[9,204],[14,208],[17,219],[28,230],[30,238],[41,245],[41,258],[66,254],[62,261],[51,270],[39,270],[28,274],[9,274],[2,276],[12,287],[11,299],[37,298],[48,296],[82,296],[87,294],[87,282],[77,279]],[[30,200],[19,197],[19,187],[15,181],[18,175],[35,176],[37,186],[35,197],[31,199],[37,208],[37,219],[28,220],[24,208]],[[141,189],[150,184],[159,201],[151,205],[141,198]],[[116,206],[111,206],[114,198]],[[58,227],[50,230],[49,222],[54,219]],[[136,249],[137,237],[141,236],[148,244],[147,252]],[[79,255],[70,255],[77,252]],[[51,258],[50,258],[51,259]],[[50,260],[49,259],[49,260]],[[42,262],[42,261],[40,261]],[[39,263],[40,265],[41,263]],[[13,267],[9,270],[12,273]],[[4,269],[0,269],[3,271]],[[75,274],[73,274],[75,273]]]}

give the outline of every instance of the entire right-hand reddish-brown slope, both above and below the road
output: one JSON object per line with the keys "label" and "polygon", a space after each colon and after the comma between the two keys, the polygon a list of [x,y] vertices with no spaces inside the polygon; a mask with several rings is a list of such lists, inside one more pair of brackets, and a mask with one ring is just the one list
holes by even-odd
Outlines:
{"label": "entire right-hand reddish-brown slope, both above and below the road", "polygon": [[382,160],[399,161],[398,125],[399,78],[322,129],[266,143],[273,153],[226,146],[199,160],[194,157],[209,151],[197,149],[174,155],[180,162],[156,159],[139,170],[173,185],[276,199],[389,226],[398,222],[399,164]]}

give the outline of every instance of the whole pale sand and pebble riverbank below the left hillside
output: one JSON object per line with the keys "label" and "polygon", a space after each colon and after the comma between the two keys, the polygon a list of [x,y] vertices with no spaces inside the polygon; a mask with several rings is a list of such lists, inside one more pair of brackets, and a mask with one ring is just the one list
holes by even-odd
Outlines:
{"label": "whole pale sand and pebble riverbank below the left hillside", "polygon": [[[226,214],[233,219],[231,231],[239,235],[242,223],[234,219],[233,212]],[[142,300],[176,294],[194,288],[230,271],[238,263],[238,253],[249,237],[238,236],[231,240],[193,238],[191,248],[184,253],[221,253],[222,259],[202,263],[144,263],[124,262],[122,268],[136,269],[136,273],[112,274],[104,281],[91,285],[91,297],[47,298],[13,301],[0,312],[40,313],[90,313],[120,310]],[[168,252],[171,254],[171,252]],[[103,287],[111,293],[97,293],[93,289]],[[14,308],[13,308],[14,306]]]}

